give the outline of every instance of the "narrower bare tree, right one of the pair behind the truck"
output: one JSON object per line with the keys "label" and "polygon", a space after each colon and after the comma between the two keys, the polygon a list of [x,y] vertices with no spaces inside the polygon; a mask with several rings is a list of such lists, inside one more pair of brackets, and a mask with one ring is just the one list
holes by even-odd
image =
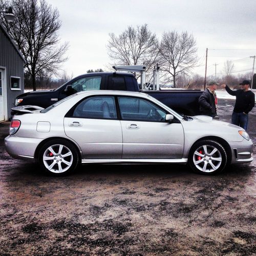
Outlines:
{"label": "narrower bare tree, right one of the pair behind the truck", "polygon": [[180,74],[186,74],[197,63],[196,40],[187,32],[165,32],[160,44],[161,70],[166,74],[166,82],[173,80],[174,88]]}

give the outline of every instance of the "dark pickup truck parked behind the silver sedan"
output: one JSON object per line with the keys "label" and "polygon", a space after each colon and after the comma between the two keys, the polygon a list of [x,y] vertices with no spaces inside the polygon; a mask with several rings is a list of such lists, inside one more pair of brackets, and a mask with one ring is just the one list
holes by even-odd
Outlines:
{"label": "dark pickup truck parked behind the silver sedan", "polygon": [[[99,72],[80,75],[55,90],[34,91],[19,95],[15,105],[38,105],[42,108],[54,104],[69,95],[80,91],[121,90],[139,92],[140,88],[134,75],[121,72]],[[198,98],[200,90],[160,90],[143,91],[158,99],[178,113],[199,115]]]}

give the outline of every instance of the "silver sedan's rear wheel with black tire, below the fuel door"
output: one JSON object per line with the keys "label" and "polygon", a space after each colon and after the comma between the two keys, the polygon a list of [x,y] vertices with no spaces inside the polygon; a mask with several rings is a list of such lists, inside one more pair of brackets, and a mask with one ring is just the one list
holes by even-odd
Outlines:
{"label": "silver sedan's rear wheel with black tire, below the fuel door", "polygon": [[70,174],[76,169],[78,161],[77,148],[66,140],[48,141],[39,151],[40,168],[52,176]]}

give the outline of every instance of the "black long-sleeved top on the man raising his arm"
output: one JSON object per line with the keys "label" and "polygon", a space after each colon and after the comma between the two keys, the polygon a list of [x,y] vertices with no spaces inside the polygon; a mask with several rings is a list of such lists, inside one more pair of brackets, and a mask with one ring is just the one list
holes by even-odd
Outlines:
{"label": "black long-sleeved top on the man raising his arm", "polygon": [[237,90],[232,91],[227,85],[226,85],[226,91],[233,96],[236,96],[236,103],[234,104],[234,110],[233,112],[236,113],[246,113],[248,114],[254,104],[255,104],[255,95],[252,91],[245,92],[244,90]]}

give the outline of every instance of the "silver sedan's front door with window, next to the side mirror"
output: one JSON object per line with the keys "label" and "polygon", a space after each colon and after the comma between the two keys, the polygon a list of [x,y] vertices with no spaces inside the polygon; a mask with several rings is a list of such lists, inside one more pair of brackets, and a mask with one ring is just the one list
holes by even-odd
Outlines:
{"label": "silver sedan's front door with window, next to the side mirror", "polygon": [[165,121],[167,112],[144,98],[118,97],[123,133],[122,158],[173,158],[183,155],[180,121]]}

